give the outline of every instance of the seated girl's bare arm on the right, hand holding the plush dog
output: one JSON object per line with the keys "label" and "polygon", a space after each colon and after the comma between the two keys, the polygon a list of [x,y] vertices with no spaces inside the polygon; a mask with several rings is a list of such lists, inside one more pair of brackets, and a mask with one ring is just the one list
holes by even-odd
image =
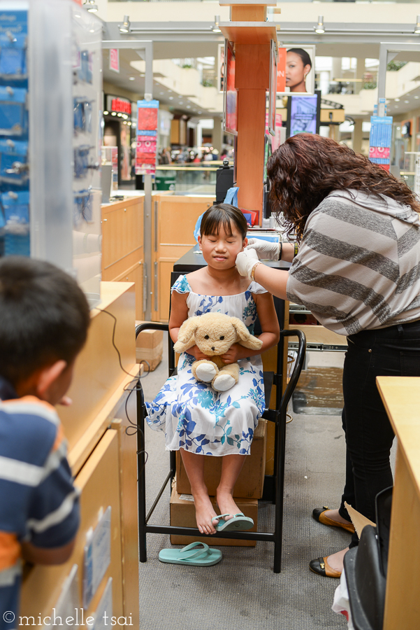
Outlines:
{"label": "seated girl's bare arm on the right, hand holding the plush dog", "polygon": [[259,323],[261,324],[261,335],[259,339],[263,342],[260,350],[251,350],[240,344],[233,344],[229,350],[222,356],[224,363],[235,363],[241,358],[247,356],[256,356],[265,350],[275,346],[280,339],[280,326],[275,312],[273,295],[270,293],[254,294],[256,303],[256,312],[258,313]]}

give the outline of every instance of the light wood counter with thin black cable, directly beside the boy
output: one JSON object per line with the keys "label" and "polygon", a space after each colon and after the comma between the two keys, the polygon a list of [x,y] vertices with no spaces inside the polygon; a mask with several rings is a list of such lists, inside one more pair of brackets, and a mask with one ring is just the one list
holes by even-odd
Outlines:
{"label": "light wood counter with thin black cable, directly beside the boy", "polygon": [[[87,533],[98,524],[99,514],[111,506],[110,565],[85,611],[85,618],[97,610],[112,577],[113,615],[131,616],[133,626],[139,627],[137,442],[132,430],[130,435],[126,434],[130,420],[136,421],[136,395],[126,391],[133,377],[124,372],[138,373],[134,290],[133,283],[101,283],[101,304],[92,311],[87,343],[77,359],[68,391],[73,405],[57,407],[68,440],[68,461],[75,475],[75,486],[81,492],[80,529],[73,554],[66,563],[38,565],[26,575],[21,616],[37,619],[38,615],[50,615],[74,565],[77,565],[82,605]],[[115,334],[113,316],[117,320]],[[128,397],[129,417],[125,408]]]}

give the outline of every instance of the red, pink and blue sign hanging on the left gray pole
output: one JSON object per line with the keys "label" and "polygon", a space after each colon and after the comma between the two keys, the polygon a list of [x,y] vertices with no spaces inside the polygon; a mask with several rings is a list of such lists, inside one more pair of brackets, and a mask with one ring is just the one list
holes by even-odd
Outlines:
{"label": "red, pink and blue sign hanging on the left gray pole", "polygon": [[156,172],[159,101],[137,102],[136,175]]}

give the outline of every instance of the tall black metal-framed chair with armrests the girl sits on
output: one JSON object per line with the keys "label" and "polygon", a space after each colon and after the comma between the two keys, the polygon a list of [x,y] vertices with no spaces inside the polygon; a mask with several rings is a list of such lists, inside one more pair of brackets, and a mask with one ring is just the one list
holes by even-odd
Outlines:
{"label": "tall black metal-framed chair with armrests the girl sits on", "polygon": [[[178,274],[179,275],[179,274]],[[164,330],[168,331],[168,324],[147,322],[136,326],[136,338],[143,330]],[[258,332],[256,332],[258,334]],[[282,378],[283,378],[283,358],[284,358],[284,339],[288,337],[298,337],[299,345],[297,351],[296,362],[294,370],[289,379],[287,387],[282,392]],[[276,372],[264,372],[264,387],[266,388],[266,410],[263,413],[263,418],[275,423],[275,461],[273,475],[273,492],[270,498],[275,503],[275,531],[273,533],[266,532],[250,532],[250,531],[238,531],[238,532],[217,532],[212,535],[212,541],[215,538],[236,538],[240,540],[263,540],[265,542],[274,542],[274,573],[280,573],[281,561],[282,561],[282,528],[283,528],[283,495],[284,495],[284,454],[286,447],[286,423],[287,423],[287,405],[291,399],[291,395],[294,392],[294,388],[298,382],[300,371],[303,367],[303,361],[305,359],[305,346],[306,339],[303,332],[300,330],[282,330],[280,332],[280,342],[277,346],[277,369]],[[169,352],[169,375],[175,372],[175,353],[173,351],[173,342],[170,335],[168,335],[168,352]],[[140,381],[138,381],[140,383]],[[271,388],[275,384],[276,386],[276,404],[275,409],[269,409],[268,404],[270,401]],[[146,493],[145,493],[145,444],[144,444],[144,428],[145,428],[145,416],[146,416],[143,389],[141,384],[137,388],[137,421],[138,421],[138,535],[139,535],[139,548],[140,548],[140,562],[147,561],[147,548],[146,548],[146,535],[147,533],[161,533],[161,534],[178,534],[192,536],[201,535],[198,528],[193,527],[180,527],[171,525],[152,525],[149,524],[150,517],[152,516],[157,503],[164,493],[164,490],[168,483],[172,484],[173,477],[175,477],[175,452],[171,451],[170,454],[170,470],[166,477],[164,484],[161,486],[157,497],[154,500],[152,507],[148,514],[146,513]],[[266,495],[266,492],[265,492]],[[263,496],[266,498],[266,496]],[[216,544],[213,542],[213,544]]]}

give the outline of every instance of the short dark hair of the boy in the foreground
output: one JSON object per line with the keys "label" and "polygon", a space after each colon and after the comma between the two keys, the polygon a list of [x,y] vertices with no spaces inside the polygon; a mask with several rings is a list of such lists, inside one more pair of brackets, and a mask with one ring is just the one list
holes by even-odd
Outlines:
{"label": "short dark hair of the boy in the foreground", "polygon": [[0,374],[14,386],[56,360],[71,363],[89,321],[85,294],[66,272],[43,260],[0,259]]}

